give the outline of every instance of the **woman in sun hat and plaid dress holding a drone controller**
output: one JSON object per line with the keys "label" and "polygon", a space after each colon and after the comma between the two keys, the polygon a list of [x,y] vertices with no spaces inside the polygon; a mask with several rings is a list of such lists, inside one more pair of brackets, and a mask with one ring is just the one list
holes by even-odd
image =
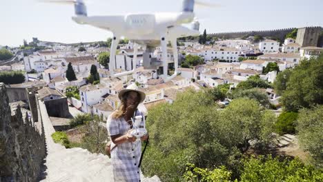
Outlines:
{"label": "woman in sun hat and plaid dress holding a drone controller", "polygon": [[[141,141],[148,136],[136,137],[130,135],[133,127],[131,118],[143,116],[137,111],[139,103],[145,99],[144,92],[134,89],[125,89],[119,92],[121,105],[110,114],[107,121],[108,133],[111,138],[111,159],[115,181],[140,181],[140,168],[138,168],[141,156]],[[116,146],[115,146],[116,145]]]}

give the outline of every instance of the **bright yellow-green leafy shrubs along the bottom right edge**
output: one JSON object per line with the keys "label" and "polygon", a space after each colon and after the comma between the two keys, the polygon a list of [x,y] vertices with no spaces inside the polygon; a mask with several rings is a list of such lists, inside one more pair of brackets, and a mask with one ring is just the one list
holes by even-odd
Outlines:
{"label": "bright yellow-green leafy shrubs along the bottom right edge", "polygon": [[[238,181],[322,181],[323,171],[313,168],[312,165],[305,165],[300,159],[278,159],[271,156],[251,157],[244,159],[240,170],[241,179]],[[232,172],[224,166],[214,170],[197,168],[188,164],[184,178],[186,181],[231,181]]]}

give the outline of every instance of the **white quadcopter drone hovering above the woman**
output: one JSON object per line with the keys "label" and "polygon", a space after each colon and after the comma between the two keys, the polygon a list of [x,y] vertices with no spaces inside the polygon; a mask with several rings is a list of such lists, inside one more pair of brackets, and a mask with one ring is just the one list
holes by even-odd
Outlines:
{"label": "white quadcopter drone hovering above the woman", "polygon": [[[161,46],[161,62],[163,74],[161,78],[168,82],[178,74],[177,38],[198,36],[199,21],[195,18],[195,3],[201,6],[211,4],[195,2],[195,0],[183,0],[181,12],[156,12],[153,14],[124,14],[110,16],[88,16],[84,0],[57,0],[45,1],[53,3],[72,3],[75,7],[75,16],[72,20],[79,24],[95,26],[112,32],[110,48],[110,76],[122,77],[133,74],[137,62],[138,45],[146,45],[146,48]],[[211,5],[212,6],[212,5]],[[189,25],[188,27],[184,25]],[[115,54],[121,37],[126,37],[134,43],[133,70],[115,73]],[[174,55],[175,72],[168,77],[167,44],[170,42]]]}

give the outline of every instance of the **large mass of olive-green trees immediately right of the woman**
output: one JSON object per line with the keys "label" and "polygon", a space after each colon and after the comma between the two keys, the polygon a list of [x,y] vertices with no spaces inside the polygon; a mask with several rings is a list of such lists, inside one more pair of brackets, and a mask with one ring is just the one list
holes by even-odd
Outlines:
{"label": "large mass of olive-green trees immediately right of the woman", "polygon": [[[235,99],[218,110],[211,94],[188,90],[172,104],[163,103],[148,113],[150,146],[142,170],[162,181],[182,181],[186,163],[198,168],[225,165],[237,176],[239,159],[255,141],[258,150],[273,140],[275,116],[257,101]],[[179,176],[181,174],[181,176]]]}

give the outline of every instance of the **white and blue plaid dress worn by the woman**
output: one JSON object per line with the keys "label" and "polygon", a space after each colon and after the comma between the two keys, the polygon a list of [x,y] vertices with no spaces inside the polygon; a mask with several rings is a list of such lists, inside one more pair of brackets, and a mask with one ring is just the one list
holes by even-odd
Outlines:
{"label": "white and blue plaid dress worn by the woman", "polygon": [[[137,116],[143,116],[137,112]],[[143,116],[144,117],[144,116]],[[112,114],[108,117],[106,122],[108,134],[110,136],[116,134],[126,134],[130,130],[130,125],[124,118],[112,119]],[[111,144],[111,148],[115,144]],[[111,151],[112,168],[115,182],[139,182],[140,181],[140,168],[138,168],[141,156],[141,141],[126,142],[117,145]]]}

